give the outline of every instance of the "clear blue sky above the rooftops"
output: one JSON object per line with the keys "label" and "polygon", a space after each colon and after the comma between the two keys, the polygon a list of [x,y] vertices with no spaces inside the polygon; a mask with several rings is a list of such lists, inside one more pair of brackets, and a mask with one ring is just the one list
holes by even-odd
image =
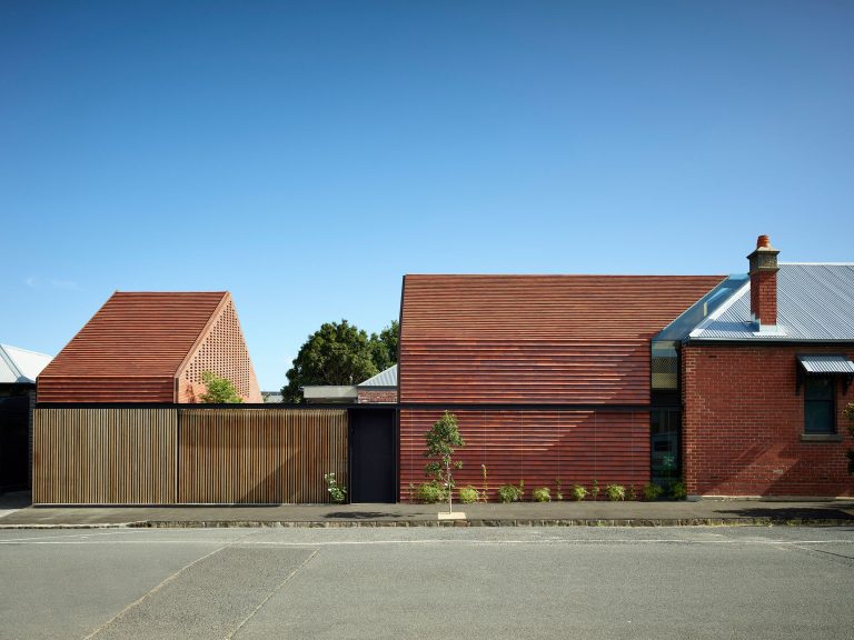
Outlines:
{"label": "clear blue sky above the rooftops", "polygon": [[230,290],[261,387],[418,272],[851,261],[851,2],[0,3],[0,341]]}

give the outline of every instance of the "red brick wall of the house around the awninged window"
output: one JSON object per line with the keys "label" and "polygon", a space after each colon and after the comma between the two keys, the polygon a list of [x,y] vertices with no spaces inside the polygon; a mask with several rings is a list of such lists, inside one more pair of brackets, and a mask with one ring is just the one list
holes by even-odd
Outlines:
{"label": "red brick wall of the house around the awninged window", "polygon": [[795,392],[798,353],[854,347],[687,344],[682,350],[683,462],[698,496],[854,496],[841,411],[854,401],[837,383],[842,442],[804,442],[804,392]]}

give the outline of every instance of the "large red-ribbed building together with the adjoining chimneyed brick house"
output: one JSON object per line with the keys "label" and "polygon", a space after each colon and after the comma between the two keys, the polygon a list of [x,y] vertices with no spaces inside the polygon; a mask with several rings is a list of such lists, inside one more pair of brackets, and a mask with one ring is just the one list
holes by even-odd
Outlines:
{"label": "large red-ribbed building together with the adjoining chimneyed brick house", "polygon": [[[692,496],[852,496],[854,263],[744,276],[406,276],[399,499],[459,419],[463,484],[684,478]],[[485,473],[485,478],[484,478]]]}

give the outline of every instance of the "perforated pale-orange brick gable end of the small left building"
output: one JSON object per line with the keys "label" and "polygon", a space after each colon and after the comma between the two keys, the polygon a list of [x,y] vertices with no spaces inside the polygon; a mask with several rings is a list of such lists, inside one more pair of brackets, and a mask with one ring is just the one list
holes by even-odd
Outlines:
{"label": "perforated pale-orange brick gable end of the small left building", "polygon": [[207,390],[201,379],[206,371],[230,380],[245,401],[264,401],[240,320],[229,294],[179,370],[178,402],[200,401],[200,396]]}

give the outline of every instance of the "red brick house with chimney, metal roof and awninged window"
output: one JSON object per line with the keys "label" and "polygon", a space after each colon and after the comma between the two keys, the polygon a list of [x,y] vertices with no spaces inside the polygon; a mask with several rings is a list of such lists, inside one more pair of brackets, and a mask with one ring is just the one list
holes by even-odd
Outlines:
{"label": "red brick house with chimney, metal roof and awninged window", "polygon": [[777,262],[681,346],[684,474],[698,496],[852,496],[854,263]]}

